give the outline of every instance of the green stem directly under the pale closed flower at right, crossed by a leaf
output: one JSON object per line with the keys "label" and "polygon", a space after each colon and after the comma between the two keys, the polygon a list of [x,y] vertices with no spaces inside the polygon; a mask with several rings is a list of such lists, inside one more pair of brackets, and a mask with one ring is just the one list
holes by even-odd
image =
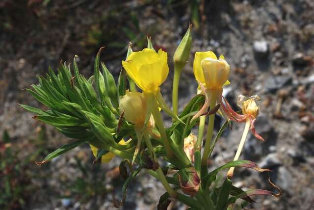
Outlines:
{"label": "green stem directly under the pale closed flower at right, crossed by a leaf", "polygon": [[[210,99],[210,105],[209,105],[210,108],[213,108],[216,105],[216,98],[217,98],[216,91],[212,91],[211,99]],[[209,124],[208,124],[208,128],[207,128],[204,154],[203,154],[202,163],[201,163],[202,164],[202,175],[207,174],[207,159],[209,157],[210,144],[211,144],[212,134],[213,134],[213,129],[214,129],[214,121],[215,121],[215,114],[209,115]]]}

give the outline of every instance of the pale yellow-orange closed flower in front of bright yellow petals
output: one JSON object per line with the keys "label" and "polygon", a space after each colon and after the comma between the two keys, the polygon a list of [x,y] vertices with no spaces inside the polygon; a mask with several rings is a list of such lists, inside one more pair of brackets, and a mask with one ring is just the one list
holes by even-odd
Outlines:
{"label": "pale yellow-orange closed flower in front of bright yellow petals", "polygon": [[230,75],[230,66],[223,58],[211,57],[201,61],[205,84],[209,89],[221,89]]}

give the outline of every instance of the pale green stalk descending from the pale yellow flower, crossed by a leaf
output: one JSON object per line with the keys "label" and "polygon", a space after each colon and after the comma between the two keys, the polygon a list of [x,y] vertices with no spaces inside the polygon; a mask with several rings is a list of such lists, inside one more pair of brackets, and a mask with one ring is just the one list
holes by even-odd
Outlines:
{"label": "pale green stalk descending from the pale yellow flower, crossed by a leaf", "polygon": [[[148,150],[153,154],[154,161],[158,162],[158,159],[156,157],[151,139],[149,138],[147,131],[144,131],[144,139],[145,139],[145,143],[146,143]],[[166,189],[166,191],[169,193],[169,195],[173,198],[176,198],[177,192],[174,189],[172,189],[170,184],[167,182],[167,179],[166,179],[165,175],[163,174],[160,166],[157,169],[157,175],[158,175],[158,179],[160,180],[160,182],[162,183],[162,185]]]}

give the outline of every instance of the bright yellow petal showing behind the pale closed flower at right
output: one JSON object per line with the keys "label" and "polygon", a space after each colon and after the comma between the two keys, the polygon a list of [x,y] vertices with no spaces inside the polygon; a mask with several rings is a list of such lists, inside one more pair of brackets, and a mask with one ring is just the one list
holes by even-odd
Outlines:
{"label": "bright yellow petal showing behind the pale closed flower at right", "polygon": [[204,78],[203,69],[201,66],[201,61],[205,58],[208,58],[208,57],[213,58],[213,59],[217,59],[217,56],[215,55],[215,53],[213,53],[211,51],[196,52],[195,57],[194,57],[194,62],[193,62],[194,75],[195,75],[195,78],[202,83],[205,83],[205,78]]}

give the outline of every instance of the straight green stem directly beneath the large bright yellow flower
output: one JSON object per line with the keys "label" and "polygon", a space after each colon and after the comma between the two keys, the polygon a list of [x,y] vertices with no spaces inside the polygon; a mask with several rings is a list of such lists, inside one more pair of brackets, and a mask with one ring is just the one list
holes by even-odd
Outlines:
{"label": "straight green stem directly beneath the large bright yellow flower", "polygon": [[163,122],[162,122],[162,118],[161,118],[160,111],[158,109],[156,98],[154,98],[154,102],[153,103],[154,103],[153,104],[154,120],[156,122],[158,131],[159,131],[160,136],[162,138],[162,144],[163,144],[163,146],[164,146],[164,148],[166,150],[167,157],[169,159],[171,159],[173,157],[173,153],[172,153],[171,148],[170,148],[169,140],[168,140],[168,137],[167,137],[167,134],[166,134],[165,127],[164,127]]}

